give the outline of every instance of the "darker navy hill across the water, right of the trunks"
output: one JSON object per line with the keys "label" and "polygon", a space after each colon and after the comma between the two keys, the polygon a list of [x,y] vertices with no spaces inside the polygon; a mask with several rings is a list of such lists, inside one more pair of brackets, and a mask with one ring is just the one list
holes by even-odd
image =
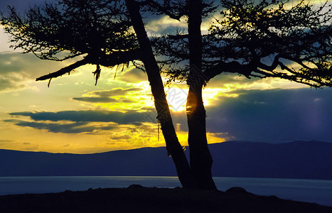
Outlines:
{"label": "darker navy hill across the water, right of the trunks", "polygon": [[211,144],[213,175],[332,180],[332,143],[296,141]]}

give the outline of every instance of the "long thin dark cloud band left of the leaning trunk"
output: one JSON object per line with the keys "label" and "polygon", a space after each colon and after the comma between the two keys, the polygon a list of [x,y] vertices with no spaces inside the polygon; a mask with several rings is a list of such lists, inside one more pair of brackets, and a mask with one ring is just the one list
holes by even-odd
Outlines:
{"label": "long thin dark cloud band left of the leaning trunk", "polygon": [[[6,119],[5,122],[14,123],[16,126],[45,129],[53,133],[95,133],[102,130],[112,130],[118,124],[132,124],[141,126],[141,122],[149,121],[144,113],[129,111],[58,111],[58,112],[13,112],[16,119]],[[33,121],[23,121],[21,116],[28,116]],[[50,121],[54,123],[50,123]],[[58,121],[72,121],[71,124],[60,124]],[[91,122],[114,122],[117,124],[95,124]],[[0,141],[1,142],[1,141]]]}

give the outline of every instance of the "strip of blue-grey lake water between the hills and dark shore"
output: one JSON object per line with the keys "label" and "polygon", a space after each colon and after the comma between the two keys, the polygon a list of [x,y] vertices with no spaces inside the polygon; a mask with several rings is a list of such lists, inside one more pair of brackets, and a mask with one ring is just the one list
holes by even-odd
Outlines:
{"label": "strip of blue-grey lake water between the hills and dark shore", "polygon": [[[332,206],[332,180],[297,180],[274,178],[214,178],[218,190],[243,187],[257,195],[275,195],[279,198],[316,202]],[[89,188],[178,187],[176,177],[0,177],[0,195],[23,193],[63,192]]]}

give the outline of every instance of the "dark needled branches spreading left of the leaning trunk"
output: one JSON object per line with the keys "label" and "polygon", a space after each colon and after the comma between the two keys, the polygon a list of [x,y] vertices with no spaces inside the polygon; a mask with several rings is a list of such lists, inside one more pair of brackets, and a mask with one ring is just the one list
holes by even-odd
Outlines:
{"label": "dark needled branches spreading left of the leaning trunk", "polygon": [[34,6],[24,16],[9,6],[0,23],[11,35],[12,48],[34,53],[43,60],[84,59],[38,80],[58,77],[81,65],[113,67],[139,58],[137,42],[123,1],[58,0]]}

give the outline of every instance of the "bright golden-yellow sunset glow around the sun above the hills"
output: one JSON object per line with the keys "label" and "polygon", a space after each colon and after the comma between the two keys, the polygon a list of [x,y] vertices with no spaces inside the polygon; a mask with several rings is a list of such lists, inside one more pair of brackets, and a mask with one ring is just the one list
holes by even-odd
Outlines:
{"label": "bright golden-yellow sunset glow around the sun above the hills", "polygon": [[[22,57],[25,56],[22,55]],[[38,60],[36,62],[38,63]],[[125,75],[132,67],[124,70],[124,72],[118,72],[115,80],[114,69],[103,68],[102,77],[97,86],[94,86],[91,73],[94,68],[93,66],[80,67],[73,72],[73,75],[53,80],[50,88],[47,87],[47,82],[34,82],[33,80],[23,79],[21,82],[24,82],[25,89],[17,90],[14,96],[9,92],[0,92],[2,100],[0,109],[3,111],[0,114],[1,120],[21,119],[22,121],[32,122],[28,117],[18,116],[11,118],[8,115],[8,113],[15,111],[107,109],[111,111],[142,112],[146,111],[146,109],[154,109],[149,82],[124,82],[121,80],[122,75]],[[245,81],[242,77],[232,77],[232,80],[234,83],[228,84],[220,82],[220,80],[218,82],[210,82],[211,87],[208,85],[208,87],[203,89],[205,106],[218,104],[218,97],[237,97],[238,94],[236,91],[240,89],[272,89],[289,84],[281,80],[257,80],[239,84],[238,82]],[[219,87],[216,87],[216,85],[219,85]],[[134,90],[137,88],[139,90]],[[103,94],[102,92],[114,92],[117,89],[129,89],[129,92],[125,94],[114,94],[108,97],[115,99],[117,102],[93,103],[74,99],[77,97],[100,97],[100,94]],[[165,91],[171,111],[184,114],[188,85],[171,84],[169,87],[165,87]],[[14,123],[0,121],[0,148],[54,153],[96,153],[146,146],[165,146],[161,131],[159,131],[158,139],[158,124],[156,123],[156,119],[153,120],[155,117],[156,115],[152,114],[151,123],[144,123],[141,126],[122,124],[117,125],[111,130],[100,130],[91,133],[54,133],[46,129],[33,129],[31,127],[16,126]],[[71,123],[70,121],[38,122],[43,122],[43,124]],[[109,123],[90,122],[81,127],[95,126],[101,128],[107,125]],[[174,125],[176,126],[176,124]],[[177,134],[182,146],[187,146],[188,132],[178,129]],[[208,133],[209,143],[219,143],[232,139],[234,138],[227,135],[227,133]]]}

